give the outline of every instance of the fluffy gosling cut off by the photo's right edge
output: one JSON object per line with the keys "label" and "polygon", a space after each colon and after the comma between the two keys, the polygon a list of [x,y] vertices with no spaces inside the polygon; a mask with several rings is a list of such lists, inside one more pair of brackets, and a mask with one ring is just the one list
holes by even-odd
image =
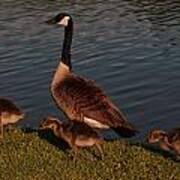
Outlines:
{"label": "fluffy gosling cut off by the photo's right edge", "polygon": [[148,136],[150,144],[159,143],[165,151],[173,151],[177,156],[180,155],[180,128],[173,129],[166,133],[162,130],[152,130]]}

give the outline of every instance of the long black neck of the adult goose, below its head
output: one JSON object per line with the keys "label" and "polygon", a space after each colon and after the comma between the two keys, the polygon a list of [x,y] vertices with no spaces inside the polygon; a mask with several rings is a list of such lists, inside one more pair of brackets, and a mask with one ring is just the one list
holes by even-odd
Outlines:
{"label": "long black neck of the adult goose, below its head", "polygon": [[72,19],[70,19],[68,25],[65,27],[64,42],[63,42],[63,49],[61,55],[61,61],[64,64],[66,64],[69,67],[69,69],[72,68],[71,65],[72,36],[73,36],[73,21]]}

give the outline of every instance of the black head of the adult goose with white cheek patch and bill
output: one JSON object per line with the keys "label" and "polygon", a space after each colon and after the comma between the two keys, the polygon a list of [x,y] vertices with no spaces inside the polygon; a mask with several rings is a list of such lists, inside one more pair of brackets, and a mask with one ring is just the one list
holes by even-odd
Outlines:
{"label": "black head of the adult goose with white cheek patch and bill", "polygon": [[59,13],[52,19],[49,19],[46,21],[48,24],[59,24],[62,26],[68,26],[69,21],[72,21],[72,18],[69,14],[67,13]]}

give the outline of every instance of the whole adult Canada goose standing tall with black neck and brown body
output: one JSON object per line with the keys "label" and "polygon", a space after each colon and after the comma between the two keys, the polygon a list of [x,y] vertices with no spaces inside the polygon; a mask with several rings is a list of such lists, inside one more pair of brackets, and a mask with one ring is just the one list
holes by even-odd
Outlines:
{"label": "whole adult Canada goose standing tall with black neck and brown body", "polygon": [[62,55],[51,83],[52,97],[58,107],[71,120],[85,122],[93,128],[113,128],[123,137],[134,136],[137,131],[105,92],[93,81],[71,71],[72,17],[60,13],[47,23],[65,27]]}

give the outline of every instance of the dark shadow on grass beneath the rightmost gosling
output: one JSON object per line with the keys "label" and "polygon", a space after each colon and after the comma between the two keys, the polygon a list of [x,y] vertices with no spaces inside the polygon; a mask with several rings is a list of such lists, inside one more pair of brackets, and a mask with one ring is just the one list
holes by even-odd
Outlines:
{"label": "dark shadow on grass beneath the rightmost gosling", "polygon": [[180,159],[178,159],[174,153],[169,152],[169,151],[165,151],[160,149],[157,145],[151,145],[151,144],[147,144],[147,143],[133,143],[131,142],[130,145],[135,145],[135,146],[140,146],[148,151],[151,151],[157,155],[163,156],[164,158],[168,158],[171,159],[174,162],[180,162]]}

